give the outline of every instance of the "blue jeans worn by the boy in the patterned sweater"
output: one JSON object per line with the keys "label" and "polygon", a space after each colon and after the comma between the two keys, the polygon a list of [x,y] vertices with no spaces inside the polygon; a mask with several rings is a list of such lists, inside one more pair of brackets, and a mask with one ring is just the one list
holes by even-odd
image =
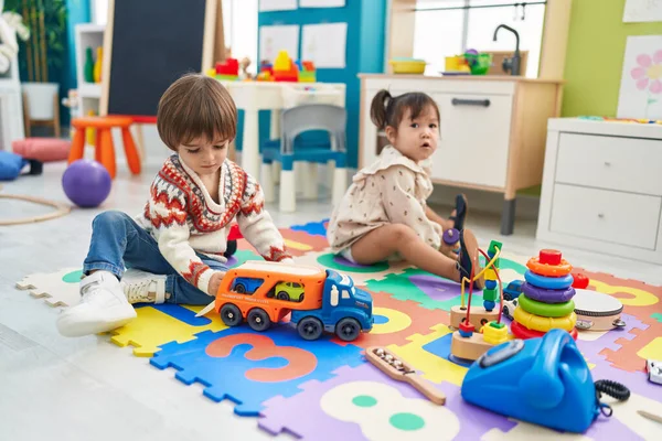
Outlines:
{"label": "blue jeans worn by the boy in the patterned sweater", "polygon": [[[201,254],[197,256],[212,269],[227,271],[224,263]],[[92,240],[83,265],[83,273],[104,270],[121,279],[125,267],[168,276],[167,303],[206,305],[213,300],[212,297],[189,283],[168,263],[159,251],[157,241],[130,216],[113,211],[102,213],[92,223]]]}

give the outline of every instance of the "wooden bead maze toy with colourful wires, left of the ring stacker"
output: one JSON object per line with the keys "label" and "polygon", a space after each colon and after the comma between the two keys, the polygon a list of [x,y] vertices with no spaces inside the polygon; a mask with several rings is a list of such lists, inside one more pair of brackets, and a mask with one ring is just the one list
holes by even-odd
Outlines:
{"label": "wooden bead maze toy with colourful wires, left of the ring stacker", "polygon": [[[501,255],[501,244],[492,240],[488,254],[482,249],[479,251],[485,257],[487,265],[481,272],[474,276],[473,270],[471,271],[471,279],[463,278],[462,284],[462,304],[465,306],[465,283],[469,283],[469,300],[466,308],[466,315],[461,318],[458,324],[458,331],[453,332],[452,341],[450,344],[450,353],[452,356],[462,359],[476,361],[482,354],[493,346],[500,345],[501,343],[512,340],[512,335],[508,333],[508,327],[501,323],[501,312],[503,309],[503,283],[499,276],[499,256]],[[474,262],[473,268],[478,265]],[[473,293],[473,283],[476,279],[484,275],[485,277],[485,289],[483,290],[483,309],[485,313],[493,314],[488,315],[495,320],[487,320],[483,315],[478,324],[480,329],[474,324],[476,320],[471,320],[471,295]],[[499,308],[496,306],[496,297],[499,297]],[[474,306],[477,308],[477,306]],[[488,311],[490,309],[490,311]],[[479,314],[481,311],[479,311]],[[452,314],[452,311],[451,311]],[[452,320],[452,319],[451,319]]]}

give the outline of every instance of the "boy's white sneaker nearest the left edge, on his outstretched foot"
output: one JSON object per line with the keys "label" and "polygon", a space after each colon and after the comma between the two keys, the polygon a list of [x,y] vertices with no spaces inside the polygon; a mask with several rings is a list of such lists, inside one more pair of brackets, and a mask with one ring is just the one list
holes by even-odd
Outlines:
{"label": "boy's white sneaker nearest the left edge, on his outstretched foot", "polygon": [[62,312],[57,330],[67,337],[98,334],[124,326],[136,316],[117,277],[96,271],[81,281],[81,303]]}

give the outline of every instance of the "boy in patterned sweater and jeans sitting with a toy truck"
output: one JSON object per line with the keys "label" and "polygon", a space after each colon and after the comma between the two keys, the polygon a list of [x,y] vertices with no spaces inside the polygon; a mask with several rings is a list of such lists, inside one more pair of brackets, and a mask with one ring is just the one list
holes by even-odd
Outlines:
{"label": "boy in patterned sweater and jeans sitting with a toy truck", "polygon": [[227,271],[224,252],[235,218],[266,260],[291,262],[259,184],[226,159],[237,127],[227,90],[203,75],[183,76],[161,97],[157,120],[175,154],[136,219],[121,212],[94,219],[81,303],[57,320],[65,336],[122,326],[137,316],[132,303],[209,304]]}

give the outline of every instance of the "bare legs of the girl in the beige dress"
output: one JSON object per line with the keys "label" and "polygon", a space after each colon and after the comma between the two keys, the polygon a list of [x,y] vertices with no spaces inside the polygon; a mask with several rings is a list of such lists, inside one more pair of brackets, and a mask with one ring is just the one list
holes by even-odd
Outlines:
{"label": "bare legs of the girl in the beige dress", "polygon": [[[478,243],[476,237],[469,230],[466,230],[465,235],[469,255],[472,261],[478,261]],[[352,246],[352,257],[356,263],[361,265],[384,261],[395,252],[398,252],[405,260],[424,271],[458,282],[460,281],[457,260],[445,256],[427,245],[406,225],[384,225],[366,234]]]}

